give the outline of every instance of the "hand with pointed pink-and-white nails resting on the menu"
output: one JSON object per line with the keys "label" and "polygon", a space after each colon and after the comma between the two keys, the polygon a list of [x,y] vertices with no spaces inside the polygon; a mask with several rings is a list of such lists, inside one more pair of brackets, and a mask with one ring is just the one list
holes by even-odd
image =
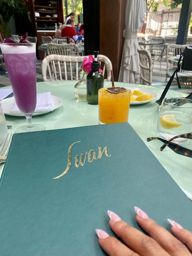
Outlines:
{"label": "hand with pointed pink-and-white nails resting on the menu", "polygon": [[[131,227],[125,221],[115,214],[108,211],[109,225],[120,240],[109,236],[105,231],[96,229],[99,237],[99,244],[102,249],[111,256],[188,256],[192,251],[192,233],[183,229],[177,222],[168,219],[172,225],[173,235],[157,225],[148,215],[138,207],[134,207],[137,213],[136,219],[143,230]],[[189,251],[190,250],[190,251]]]}

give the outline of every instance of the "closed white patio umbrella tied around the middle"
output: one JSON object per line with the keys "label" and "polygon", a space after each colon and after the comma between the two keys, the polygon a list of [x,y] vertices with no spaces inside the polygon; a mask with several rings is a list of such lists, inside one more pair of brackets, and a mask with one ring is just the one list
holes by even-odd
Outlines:
{"label": "closed white patio umbrella tied around the middle", "polygon": [[127,0],[125,10],[125,38],[119,82],[139,83],[140,67],[137,31],[141,31],[146,12],[146,0]]}

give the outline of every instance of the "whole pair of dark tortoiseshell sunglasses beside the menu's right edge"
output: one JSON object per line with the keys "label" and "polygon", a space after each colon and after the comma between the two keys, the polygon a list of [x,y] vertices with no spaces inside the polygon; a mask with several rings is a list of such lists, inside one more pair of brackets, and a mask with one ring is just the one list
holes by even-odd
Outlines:
{"label": "whole pair of dark tortoiseshell sunglasses beside the menu's right edge", "polygon": [[192,139],[192,133],[183,133],[183,134],[180,134],[180,135],[177,135],[177,136],[171,138],[170,140],[164,140],[164,139],[158,138],[158,137],[151,137],[151,138],[147,138],[147,141],[160,140],[164,143],[163,146],[161,146],[161,148],[160,148],[161,151],[163,151],[163,149],[167,146],[179,155],[192,157],[192,150],[182,147],[182,146],[178,145],[177,143],[172,142],[172,140],[177,139],[177,138]]}

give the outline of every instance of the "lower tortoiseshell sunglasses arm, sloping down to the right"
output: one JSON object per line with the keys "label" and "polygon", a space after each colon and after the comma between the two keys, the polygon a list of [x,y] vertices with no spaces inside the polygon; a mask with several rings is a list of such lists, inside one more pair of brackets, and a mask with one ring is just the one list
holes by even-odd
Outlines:
{"label": "lower tortoiseshell sunglasses arm, sloping down to the right", "polygon": [[188,149],[188,148],[184,148],[174,142],[171,142],[169,140],[164,140],[162,138],[158,138],[158,137],[151,137],[151,138],[147,138],[147,141],[151,141],[151,140],[160,140],[162,141],[167,147],[169,147],[170,149],[172,149],[175,153],[182,155],[182,156],[188,156],[188,157],[192,157],[192,150]]}

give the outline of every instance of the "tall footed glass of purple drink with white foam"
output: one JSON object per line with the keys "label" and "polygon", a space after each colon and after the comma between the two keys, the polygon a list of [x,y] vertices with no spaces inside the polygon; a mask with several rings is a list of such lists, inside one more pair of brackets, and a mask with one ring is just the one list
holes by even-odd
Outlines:
{"label": "tall footed glass of purple drink with white foam", "polygon": [[20,126],[15,132],[43,131],[45,127],[32,123],[36,108],[36,44],[1,43],[1,51],[9,74],[15,102],[26,116],[27,125]]}

